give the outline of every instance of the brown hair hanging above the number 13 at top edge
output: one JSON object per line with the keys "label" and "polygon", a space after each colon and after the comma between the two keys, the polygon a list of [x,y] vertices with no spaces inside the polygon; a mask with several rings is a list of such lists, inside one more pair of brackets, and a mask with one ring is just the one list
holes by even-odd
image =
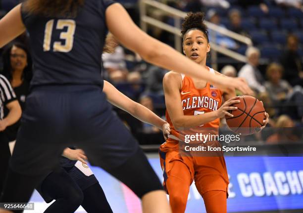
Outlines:
{"label": "brown hair hanging above the number 13 at top edge", "polygon": [[76,17],[80,6],[85,0],[27,0],[24,2],[24,10],[46,17]]}

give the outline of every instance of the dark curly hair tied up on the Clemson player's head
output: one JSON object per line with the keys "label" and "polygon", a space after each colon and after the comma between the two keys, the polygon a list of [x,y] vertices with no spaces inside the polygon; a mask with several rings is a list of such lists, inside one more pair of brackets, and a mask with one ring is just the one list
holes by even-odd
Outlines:
{"label": "dark curly hair tied up on the Clemson player's head", "polygon": [[184,38],[186,34],[190,30],[200,30],[205,35],[207,42],[209,42],[208,39],[208,31],[207,27],[204,24],[205,14],[202,12],[189,12],[187,13],[187,16],[184,19],[184,22],[182,23],[182,39],[184,41]]}

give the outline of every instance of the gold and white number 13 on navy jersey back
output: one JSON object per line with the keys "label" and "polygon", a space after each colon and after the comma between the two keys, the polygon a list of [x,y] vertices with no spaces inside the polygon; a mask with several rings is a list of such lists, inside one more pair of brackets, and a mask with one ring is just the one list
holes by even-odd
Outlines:
{"label": "gold and white number 13 on navy jersey back", "polygon": [[[43,51],[50,51],[51,34],[53,29],[54,19],[48,21],[45,25]],[[61,41],[54,41],[52,51],[54,52],[69,52],[73,48],[74,34],[76,30],[76,22],[72,19],[58,19],[56,30],[63,30],[67,27],[66,32],[60,33],[60,39],[65,40],[64,45]]]}

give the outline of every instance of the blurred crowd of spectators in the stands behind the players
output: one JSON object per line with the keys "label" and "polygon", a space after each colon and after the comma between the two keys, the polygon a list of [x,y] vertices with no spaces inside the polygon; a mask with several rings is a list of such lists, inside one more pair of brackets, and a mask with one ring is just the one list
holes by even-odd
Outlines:
{"label": "blurred crowd of spectators in the stands behind the players", "polygon": [[[139,25],[139,2],[118,0]],[[279,141],[302,142],[295,132],[277,131],[283,128],[303,127],[303,0],[158,0],[179,10],[203,11],[206,20],[238,34],[249,36],[253,47],[214,33],[210,39],[218,45],[235,50],[247,57],[240,63],[224,55],[218,55],[218,71],[227,76],[244,77],[263,101],[270,114],[270,133],[254,135],[248,140],[264,144]],[[4,16],[19,0],[0,0],[0,17]],[[157,9],[148,13],[169,25],[174,20]],[[174,46],[174,36],[149,26],[148,33]],[[211,32],[209,32],[211,34]],[[17,37],[0,49],[0,73],[5,75],[24,108],[29,92],[33,68],[28,35]],[[118,90],[132,100],[148,107],[161,117],[165,116],[165,100],[162,78],[167,70],[152,66],[139,55],[117,46],[114,53],[102,55],[102,75]],[[160,144],[164,140],[160,130],[143,124],[128,113],[114,108],[141,144]],[[225,122],[222,121],[222,128]],[[280,129],[282,128],[282,129]],[[295,129],[295,128],[294,128]],[[16,131],[12,126],[7,134]]]}

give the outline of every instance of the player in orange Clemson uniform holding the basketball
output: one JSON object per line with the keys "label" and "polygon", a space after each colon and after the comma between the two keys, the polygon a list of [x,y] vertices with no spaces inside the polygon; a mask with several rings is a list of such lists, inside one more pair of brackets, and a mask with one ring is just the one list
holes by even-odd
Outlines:
{"label": "player in orange Clemson uniform holding the basketball", "polygon": [[[221,75],[206,67],[206,56],[210,51],[204,14],[189,13],[182,25],[183,51],[185,55],[202,65],[210,73]],[[166,103],[166,119],[171,135],[160,146],[160,163],[163,169],[163,185],[169,194],[173,213],[184,213],[190,185],[193,180],[202,195],[207,213],[227,212],[228,175],[222,153],[220,156],[201,157],[187,155],[179,146],[181,130],[196,127],[211,128],[218,133],[219,119],[228,111],[237,109],[239,103],[235,91],[224,92],[205,80],[191,78],[170,71],[163,78]],[[222,104],[222,95],[226,101]],[[222,105],[221,105],[222,104]],[[266,115],[267,116],[267,115]],[[268,119],[263,121],[264,126]],[[202,126],[203,125],[203,126]],[[202,127],[201,127],[202,126]],[[204,129],[208,131],[208,129]],[[219,142],[213,142],[219,145]],[[207,143],[206,143],[207,144]]]}

